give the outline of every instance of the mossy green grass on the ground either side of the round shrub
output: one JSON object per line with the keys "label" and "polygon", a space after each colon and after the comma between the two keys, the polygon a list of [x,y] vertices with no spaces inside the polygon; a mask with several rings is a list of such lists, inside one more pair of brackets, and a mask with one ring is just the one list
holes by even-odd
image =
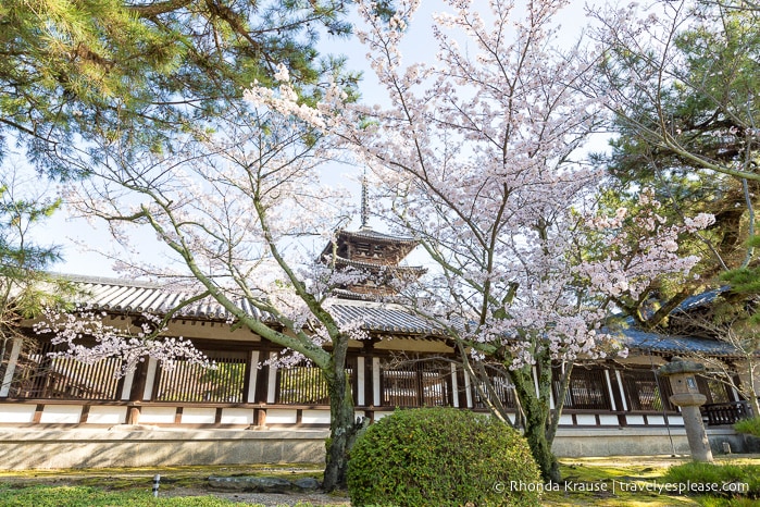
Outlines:
{"label": "mossy green grass on the ground either side of the round shrub", "polygon": [[[732,455],[718,457],[715,466],[692,463],[686,458],[578,458],[563,459],[562,478],[566,491],[550,491],[544,495],[547,506],[705,506],[749,507],[760,505],[751,494],[745,496],[678,495],[653,491],[653,485],[694,482],[742,481],[760,483],[760,458]],[[248,506],[207,496],[169,497],[172,490],[189,487],[203,490],[209,475],[273,475],[286,479],[317,477],[320,467],[310,466],[239,466],[239,467],[173,467],[162,469],[97,469],[97,470],[32,470],[0,473],[0,505],[2,506]],[[160,473],[159,498],[151,493],[151,479]],[[758,478],[758,479],[756,479]],[[564,485],[564,484],[561,484]],[[649,487],[650,491],[647,491]],[[758,485],[760,487],[760,485]],[[586,490],[586,491],[584,491]],[[589,491],[593,490],[593,491]],[[757,490],[756,490],[757,491]],[[336,504],[346,503],[336,497]],[[302,504],[301,507],[308,507]]]}

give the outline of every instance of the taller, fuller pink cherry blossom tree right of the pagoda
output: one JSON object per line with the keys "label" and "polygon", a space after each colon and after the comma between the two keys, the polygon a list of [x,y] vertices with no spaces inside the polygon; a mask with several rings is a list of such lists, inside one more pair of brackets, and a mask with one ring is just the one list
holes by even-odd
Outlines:
{"label": "taller, fuller pink cherry blossom tree right of the pagoda", "polygon": [[[709,218],[665,223],[645,191],[640,217],[597,211],[603,173],[577,150],[601,103],[576,91],[596,62],[584,63],[580,46],[556,47],[566,2],[528,1],[522,16],[507,1],[488,12],[446,3],[435,62],[409,64],[399,46],[419,2],[399,2],[388,23],[360,3],[358,36],[387,107],[304,108],[282,92],[287,83],[249,97],[335,135],[373,168],[381,214],[438,267],[406,287],[408,308],[457,344],[484,394],[484,361],[506,367],[533,455],[546,480],[559,480],[551,443],[573,364],[624,354],[602,327],[609,311],[637,311],[663,274],[687,276],[697,259],[682,258],[677,242]],[[552,373],[562,385],[553,410]],[[509,420],[498,401],[491,409]]]}

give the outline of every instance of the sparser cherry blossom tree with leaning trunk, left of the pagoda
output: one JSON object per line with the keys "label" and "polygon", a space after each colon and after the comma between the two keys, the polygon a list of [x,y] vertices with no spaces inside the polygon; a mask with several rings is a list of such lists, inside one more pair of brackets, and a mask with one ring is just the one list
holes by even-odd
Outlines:
{"label": "sparser cherry blossom tree with leaning trunk, left of the pagoda", "polygon": [[[285,66],[276,77],[287,78]],[[298,100],[295,95],[288,99]],[[361,428],[354,421],[346,355],[349,339],[364,336],[358,323],[336,322],[325,305],[333,287],[361,274],[333,272],[315,262],[308,247],[327,244],[350,211],[347,194],[320,180],[320,168],[334,158],[328,140],[292,114],[235,109],[219,124],[188,133],[182,149],[171,154],[146,151],[133,158],[120,151],[117,141],[103,141],[103,162],[90,168],[92,176],[73,185],[66,199],[84,215],[105,220],[127,249],[135,248],[136,237],[154,237],[173,261],[170,268],[150,265],[145,257],[126,253],[120,259],[122,271],[172,281],[194,295],[184,304],[220,305],[233,326],[281,345],[285,360],[306,359],[321,370],[332,410],[323,485],[332,490],[344,483],[346,450]],[[58,329],[72,330],[76,322],[63,324]],[[134,360],[146,342],[133,338],[152,339],[160,329],[155,323],[128,339],[101,333],[101,351],[115,348],[124,355],[133,344],[128,356]],[[72,333],[59,335],[70,341]],[[120,339],[121,346],[111,346]],[[176,347],[165,345],[170,351]],[[74,349],[83,358],[97,351]]]}

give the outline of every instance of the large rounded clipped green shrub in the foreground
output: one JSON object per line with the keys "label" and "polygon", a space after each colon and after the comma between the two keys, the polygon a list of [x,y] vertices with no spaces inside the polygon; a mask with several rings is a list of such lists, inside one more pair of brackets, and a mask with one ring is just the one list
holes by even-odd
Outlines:
{"label": "large rounded clipped green shrub in the foreground", "polygon": [[397,410],[351,449],[356,506],[539,505],[540,474],[509,425],[454,408]]}

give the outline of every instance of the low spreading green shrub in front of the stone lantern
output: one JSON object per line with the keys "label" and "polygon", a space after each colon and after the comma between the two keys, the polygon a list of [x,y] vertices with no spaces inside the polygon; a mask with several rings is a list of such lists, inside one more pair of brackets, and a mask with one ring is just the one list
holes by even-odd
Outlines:
{"label": "low spreading green shrub in front of the stone lantern", "polygon": [[[686,494],[760,498],[758,465],[684,463],[669,468],[662,481],[683,484],[684,487],[692,486],[690,490],[686,490]],[[742,484],[743,491],[738,491],[738,484]]]}

